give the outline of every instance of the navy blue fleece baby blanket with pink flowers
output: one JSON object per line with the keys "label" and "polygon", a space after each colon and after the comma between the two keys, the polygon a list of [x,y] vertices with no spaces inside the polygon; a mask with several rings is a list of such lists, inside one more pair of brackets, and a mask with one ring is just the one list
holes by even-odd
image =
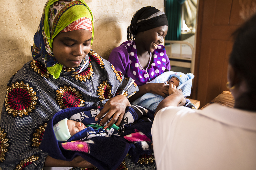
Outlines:
{"label": "navy blue fleece baby blanket with pink flowers", "polygon": [[[53,125],[64,118],[80,121],[85,125],[98,124],[95,116],[103,107],[71,107],[56,113],[48,122],[40,149],[55,159],[71,161],[81,156],[100,170],[115,170],[129,153],[132,161],[139,156],[152,154],[151,126],[154,112],[141,106],[127,106],[119,131],[97,130],[89,127],[73,135],[67,141],[58,141]],[[109,122],[109,121],[108,121]],[[107,124],[107,123],[106,123]],[[106,125],[105,124],[105,125]]]}

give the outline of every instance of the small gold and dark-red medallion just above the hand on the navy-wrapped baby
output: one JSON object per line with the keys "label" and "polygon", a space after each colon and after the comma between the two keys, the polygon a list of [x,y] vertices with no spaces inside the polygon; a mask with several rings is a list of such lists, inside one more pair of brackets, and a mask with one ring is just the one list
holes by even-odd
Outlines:
{"label": "small gold and dark-red medallion just above the hand on the navy-wrapped baby", "polygon": [[102,81],[102,83],[100,83],[100,86],[98,86],[97,90],[97,92],[99,92],[98,95],[100,96],[99,99],[101,101],[105,99],[111,99],[113,96],[113,94],[111,93],[111,89],[112,86],[108,83],[108,80]]}

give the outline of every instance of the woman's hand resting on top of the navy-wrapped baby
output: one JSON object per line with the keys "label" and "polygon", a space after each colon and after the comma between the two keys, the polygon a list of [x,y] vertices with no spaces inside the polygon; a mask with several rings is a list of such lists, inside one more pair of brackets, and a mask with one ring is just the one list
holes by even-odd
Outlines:
{"label": "woman's hand resting on top of the navy-wrapped baby", "polygon": [[105,115],[105,117],[100,121],[101,125],[104,125],[111,116],[112,119],[108,124],[106,124],[106,127],[112,126],[116,121],[116,126],[119,126],[121,124],[121,121],[125,114],[126,106],[130,106],[129,100],[124,95],[117,95],[111,99],[109,99],[103,109],[100,111],[100,113],[95,117],[95,120],[99,120],[105,113],[108,113]]}

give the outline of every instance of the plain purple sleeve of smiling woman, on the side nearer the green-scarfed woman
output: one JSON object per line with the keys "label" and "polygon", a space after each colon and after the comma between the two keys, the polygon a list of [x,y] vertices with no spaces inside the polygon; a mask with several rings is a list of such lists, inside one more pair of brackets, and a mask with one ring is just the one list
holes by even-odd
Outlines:
{"label": "plain purple sleeve of smiling woman, on the side nearer the green-scarfed woman", "polygon": [[129,77],[130,59],[124,46],[114,48],[110,53],[108,61],[113,64],[116,70],[121,71],[125,77]]}

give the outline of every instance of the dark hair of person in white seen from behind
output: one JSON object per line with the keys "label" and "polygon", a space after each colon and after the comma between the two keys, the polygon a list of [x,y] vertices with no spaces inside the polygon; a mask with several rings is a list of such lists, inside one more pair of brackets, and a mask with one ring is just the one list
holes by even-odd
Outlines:
{"label": "dark hair of person in white seen from behind", "polygon": [[245,78],[250,93],[256,93],[256,14],[234,33],[229,64]]}

